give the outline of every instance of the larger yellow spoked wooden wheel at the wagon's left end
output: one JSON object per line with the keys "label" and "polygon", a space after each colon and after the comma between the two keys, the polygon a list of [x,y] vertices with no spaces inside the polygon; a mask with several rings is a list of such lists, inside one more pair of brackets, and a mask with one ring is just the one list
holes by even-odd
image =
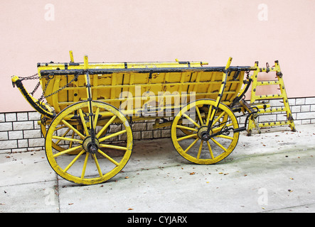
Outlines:
{"label": "larger yellow spoked wooden wheel at the wagon's left end", "polygon": [[[89,101],[82,101],[63,109],[50,123],[46,134],[46,156],[50,166],[60,177],[78,184],[98,184],[114,177],[132,153],[132,130],[127,118],[110,104],[92,101],[94,121],[91,127],[88,105]],[[118,130],[104,135],[113,122],[122,124]],[[77,129],[80,124],[82,132]],[[60,128],[64,132],[58,135]],[[91,128],[95,133],[96,150],[93,151],[90,149],[93,143]],[[118,138],[124,141],[110,144]],[[58,140],[68,142],[68,148],[63,151],[53,148]],[[67,155],[71,152],[78,154],[75,157]]]}

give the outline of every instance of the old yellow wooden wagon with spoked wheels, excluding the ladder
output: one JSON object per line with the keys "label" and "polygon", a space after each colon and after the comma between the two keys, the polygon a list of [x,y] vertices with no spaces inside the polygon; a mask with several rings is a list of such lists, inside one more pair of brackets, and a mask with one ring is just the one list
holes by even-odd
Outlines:
{"label": "old yellow wooden wagon with spoked wheels, excluding the ladder", "polygon": [[[237,145],[240,127],[234,111],[248,118],[266,104],[242,99],[257,67],[208,67],[205,62],[38,63],[38,74],[12,77],[41,114],[50,166],[78,184],[97,184],[117,175],[132,154],[132,123],[155,119],[171,126],[177,152],[197,164],[213,164]],[[245,77],[245,74],[247,77]],[[23,87],[39,79],[35,99]],[[47,103],[43,100],[46,99]]]}

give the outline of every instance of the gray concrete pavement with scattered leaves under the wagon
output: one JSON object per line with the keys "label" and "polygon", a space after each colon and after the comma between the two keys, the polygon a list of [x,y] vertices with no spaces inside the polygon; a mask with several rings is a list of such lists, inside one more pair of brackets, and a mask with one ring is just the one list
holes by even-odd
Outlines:
{"label": "gray concrete pavement with scattered leaves under the wagon", "polygon": [[264,129],[216,165],[193,165],[170,138],[139,141],[124,172],[80,186],[44,151],[0,155],[0,212],[314,212],[315,125]]}

